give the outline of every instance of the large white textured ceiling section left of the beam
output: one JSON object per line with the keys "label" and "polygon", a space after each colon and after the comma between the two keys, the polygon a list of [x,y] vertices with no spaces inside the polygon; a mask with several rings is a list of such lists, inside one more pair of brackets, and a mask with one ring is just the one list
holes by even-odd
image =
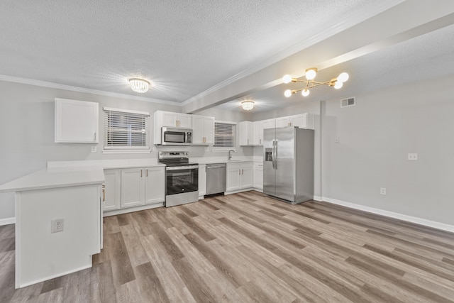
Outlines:
{"label": "large white textured ceiling section left of the beam", "polygon": [[2,0],[0,75],[182,102],[386,2]]}

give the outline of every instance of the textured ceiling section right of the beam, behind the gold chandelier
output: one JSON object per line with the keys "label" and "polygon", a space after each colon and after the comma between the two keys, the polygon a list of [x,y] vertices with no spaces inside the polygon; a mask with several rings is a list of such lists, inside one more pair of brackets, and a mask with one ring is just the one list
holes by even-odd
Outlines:
{"label": "textured ceiling section right of the beam, behind the gold chandelier", "polygon": [[297,89],[302,84],[279,84],[218,105],[216,108],[243,111],[240,101],[250,99],[255,101],[253,112],[258,113],[297,105],[301,102],[336,97],[340,100],[354,97],[361,92],[452,75],[454,73],[454,25],[322,70],[317,74],[316,80],[326,81],[341,72],[348,72],[350,75],[350,79],[345,82],[342,89],[323,86],[311,89],[308,97],[294,94],[286,98],[285,89]]}

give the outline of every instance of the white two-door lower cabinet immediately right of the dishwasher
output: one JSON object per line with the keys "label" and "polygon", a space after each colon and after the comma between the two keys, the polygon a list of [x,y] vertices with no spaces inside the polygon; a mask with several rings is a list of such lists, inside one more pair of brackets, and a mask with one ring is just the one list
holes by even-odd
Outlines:
{"label": "white two-door lower cabinet immediately right of the dishwasher", "polygon": [[251,187],[253,187],[253,162],[227,163],[226,192]]}

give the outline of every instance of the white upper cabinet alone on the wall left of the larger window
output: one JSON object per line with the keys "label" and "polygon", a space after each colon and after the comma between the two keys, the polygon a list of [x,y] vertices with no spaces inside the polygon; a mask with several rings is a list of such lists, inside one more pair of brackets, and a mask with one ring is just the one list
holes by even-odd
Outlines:
{"label": "white upper cabinet alone on the wall left of the larger window", "polygon": [[55,142],[98,143],[99,104],[55,98]]}

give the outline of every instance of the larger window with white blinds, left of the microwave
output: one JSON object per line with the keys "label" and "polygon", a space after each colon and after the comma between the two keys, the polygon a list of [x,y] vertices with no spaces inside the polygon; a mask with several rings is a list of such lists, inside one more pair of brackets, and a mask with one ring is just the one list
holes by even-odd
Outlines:
{"label": "larger window with white blinds, left of the microwave", "polygon": [[150,113],[104,107],[104,150],[150,150]]}

